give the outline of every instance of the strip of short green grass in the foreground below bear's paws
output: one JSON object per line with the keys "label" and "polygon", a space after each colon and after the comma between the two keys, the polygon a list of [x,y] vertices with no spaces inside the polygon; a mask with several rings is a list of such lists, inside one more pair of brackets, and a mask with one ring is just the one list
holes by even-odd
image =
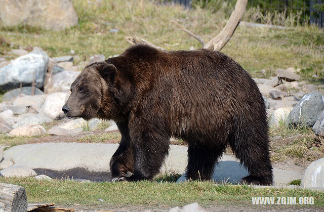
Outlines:
{"label": "strip of short green grass in the foreground below bear's paws", "polygon": [[[303,189],[256,189],[246,185],[218,185],[211,182],[159,183],[79,183],[71,180],[37,181],[33,178],[0,178],[26,189],[29,202],[55,202],[58,205],[92,207],[175,206],[198,202],[209,205],[252,206],[252,196],[314,197],[315,207],[324,207],[324,192]],[[98,201],[102,199],[103,202]],[[272,205],[273,207],[273,205]],[[306,208],[300,206],[298,208]]]}

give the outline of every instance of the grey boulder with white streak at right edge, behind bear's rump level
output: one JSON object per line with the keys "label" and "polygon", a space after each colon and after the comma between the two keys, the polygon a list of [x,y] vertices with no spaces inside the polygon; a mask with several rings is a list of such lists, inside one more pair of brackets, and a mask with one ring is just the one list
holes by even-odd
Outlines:
{"label": "grey boulder with white streak at right edge, behind bear's rump level", "polygon": [[318,91],[305,95],[290,112],[287,123],[312,127],[324,110],[324,96]]}

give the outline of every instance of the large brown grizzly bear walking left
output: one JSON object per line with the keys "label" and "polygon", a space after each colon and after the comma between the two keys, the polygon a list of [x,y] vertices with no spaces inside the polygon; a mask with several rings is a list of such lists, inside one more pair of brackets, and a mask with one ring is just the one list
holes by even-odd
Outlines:
{"label": "large brown grizzly bear walking left", "polygon": [[188,143],[189,179],[210,180],[229,146],[249,171],[242,182],[272,184],[264,100],[249,73],[220,52],[131,47],[88,65],[62,110],[69,118],[116,122],[113,181],[151,180],[173,136]]}

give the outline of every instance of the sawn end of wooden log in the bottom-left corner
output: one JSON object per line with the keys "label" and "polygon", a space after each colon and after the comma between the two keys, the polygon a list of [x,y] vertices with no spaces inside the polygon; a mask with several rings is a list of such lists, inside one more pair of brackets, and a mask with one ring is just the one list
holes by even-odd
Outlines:
{"label": "sawn end of wooden log in the bottom-left corner", "polygon": [[0,183],[0,210],[27,211],[27,194],[23,187]]}

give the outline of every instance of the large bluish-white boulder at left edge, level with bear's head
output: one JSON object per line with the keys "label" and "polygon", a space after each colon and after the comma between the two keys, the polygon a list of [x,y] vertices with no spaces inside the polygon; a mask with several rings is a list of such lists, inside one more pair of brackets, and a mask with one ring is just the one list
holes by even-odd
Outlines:
{"label": "large bluish-white boulder at left edge, level with bear's head", "polygon": [[31,86],[33,81],[36,88],[42,88],[48,63],[48,55],[40,50],[16,58],[0,68],[0,89],[7,91],[19,88],[20,83],[22,86]]}

